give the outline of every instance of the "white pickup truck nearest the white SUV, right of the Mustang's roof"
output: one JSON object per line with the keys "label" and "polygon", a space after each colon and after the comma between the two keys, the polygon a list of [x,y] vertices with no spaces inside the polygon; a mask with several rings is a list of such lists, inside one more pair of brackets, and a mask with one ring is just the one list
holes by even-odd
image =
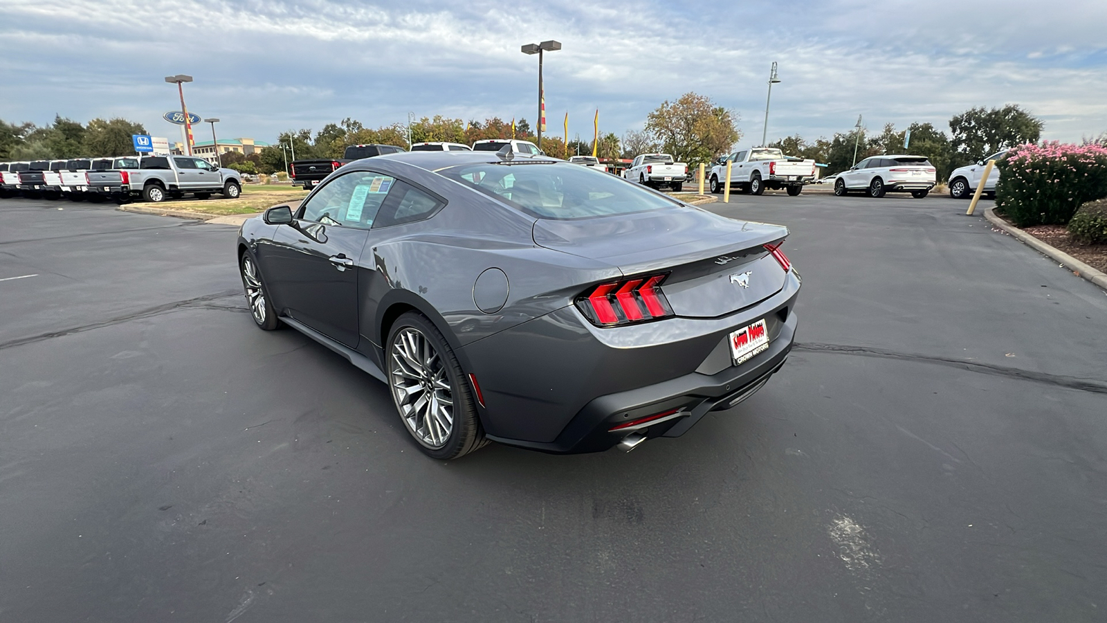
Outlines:
{"label": "white pickup truck nearest the white SUV, right of the Mustang's roof", "polygon": [[796,196],[804,184],[815,181],[815,161],[789,157],[774,147],[753,147],[721,156],[711,167],[711,192],[722,193],[726,163],[731,163],[731,186],[759,195],[765,188],[786,188]]}

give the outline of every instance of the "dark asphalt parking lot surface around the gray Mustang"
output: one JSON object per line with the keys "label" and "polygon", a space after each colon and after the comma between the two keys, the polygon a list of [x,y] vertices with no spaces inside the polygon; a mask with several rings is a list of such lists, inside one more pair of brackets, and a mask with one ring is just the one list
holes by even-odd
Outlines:
{"label": "dark asphalt parking lot surface around the gray Mustang", "polygon": [[764,389],[442,463],[234,227],[0,200],[0,621],[1104,621],[1107,295],[966,206],[710,204],[793,232]]}

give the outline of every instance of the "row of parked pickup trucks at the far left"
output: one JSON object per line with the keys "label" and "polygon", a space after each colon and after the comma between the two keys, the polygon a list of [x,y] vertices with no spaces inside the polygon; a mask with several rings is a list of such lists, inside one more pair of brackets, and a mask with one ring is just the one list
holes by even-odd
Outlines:
{"label": "row of parked pickup trucks at the far left", "polygon": [[208,198],[213,193],[235,198],[242,190],[237,171],[182,155],[0,163],[0,196],[91,197],[120,203],[135,198],[162,202],[186,194]]}

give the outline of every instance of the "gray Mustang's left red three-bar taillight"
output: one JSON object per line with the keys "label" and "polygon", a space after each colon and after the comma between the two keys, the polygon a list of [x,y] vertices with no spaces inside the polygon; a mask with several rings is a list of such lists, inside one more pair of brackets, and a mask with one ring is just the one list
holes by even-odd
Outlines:
{"label": "gray Mustang's left red three-bar taillight", "polygon": [[600,284],[577,297],[577,308],[593,325],[615,327],[673,315],[661,283],[669,275]]}

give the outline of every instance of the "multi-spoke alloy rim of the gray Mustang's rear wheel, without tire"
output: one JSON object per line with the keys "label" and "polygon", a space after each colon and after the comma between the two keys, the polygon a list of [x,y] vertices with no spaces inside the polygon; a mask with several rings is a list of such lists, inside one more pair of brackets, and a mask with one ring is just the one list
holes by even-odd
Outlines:
{"label": "multi-spoke alloy rim of the gray Mustang's rear wheel, without tire", "polygon": [[423,446],[442,448],[454,429],[454,392],[445,361],[413,327],[395,335],[390,351],[392,395],[404,425]]}

